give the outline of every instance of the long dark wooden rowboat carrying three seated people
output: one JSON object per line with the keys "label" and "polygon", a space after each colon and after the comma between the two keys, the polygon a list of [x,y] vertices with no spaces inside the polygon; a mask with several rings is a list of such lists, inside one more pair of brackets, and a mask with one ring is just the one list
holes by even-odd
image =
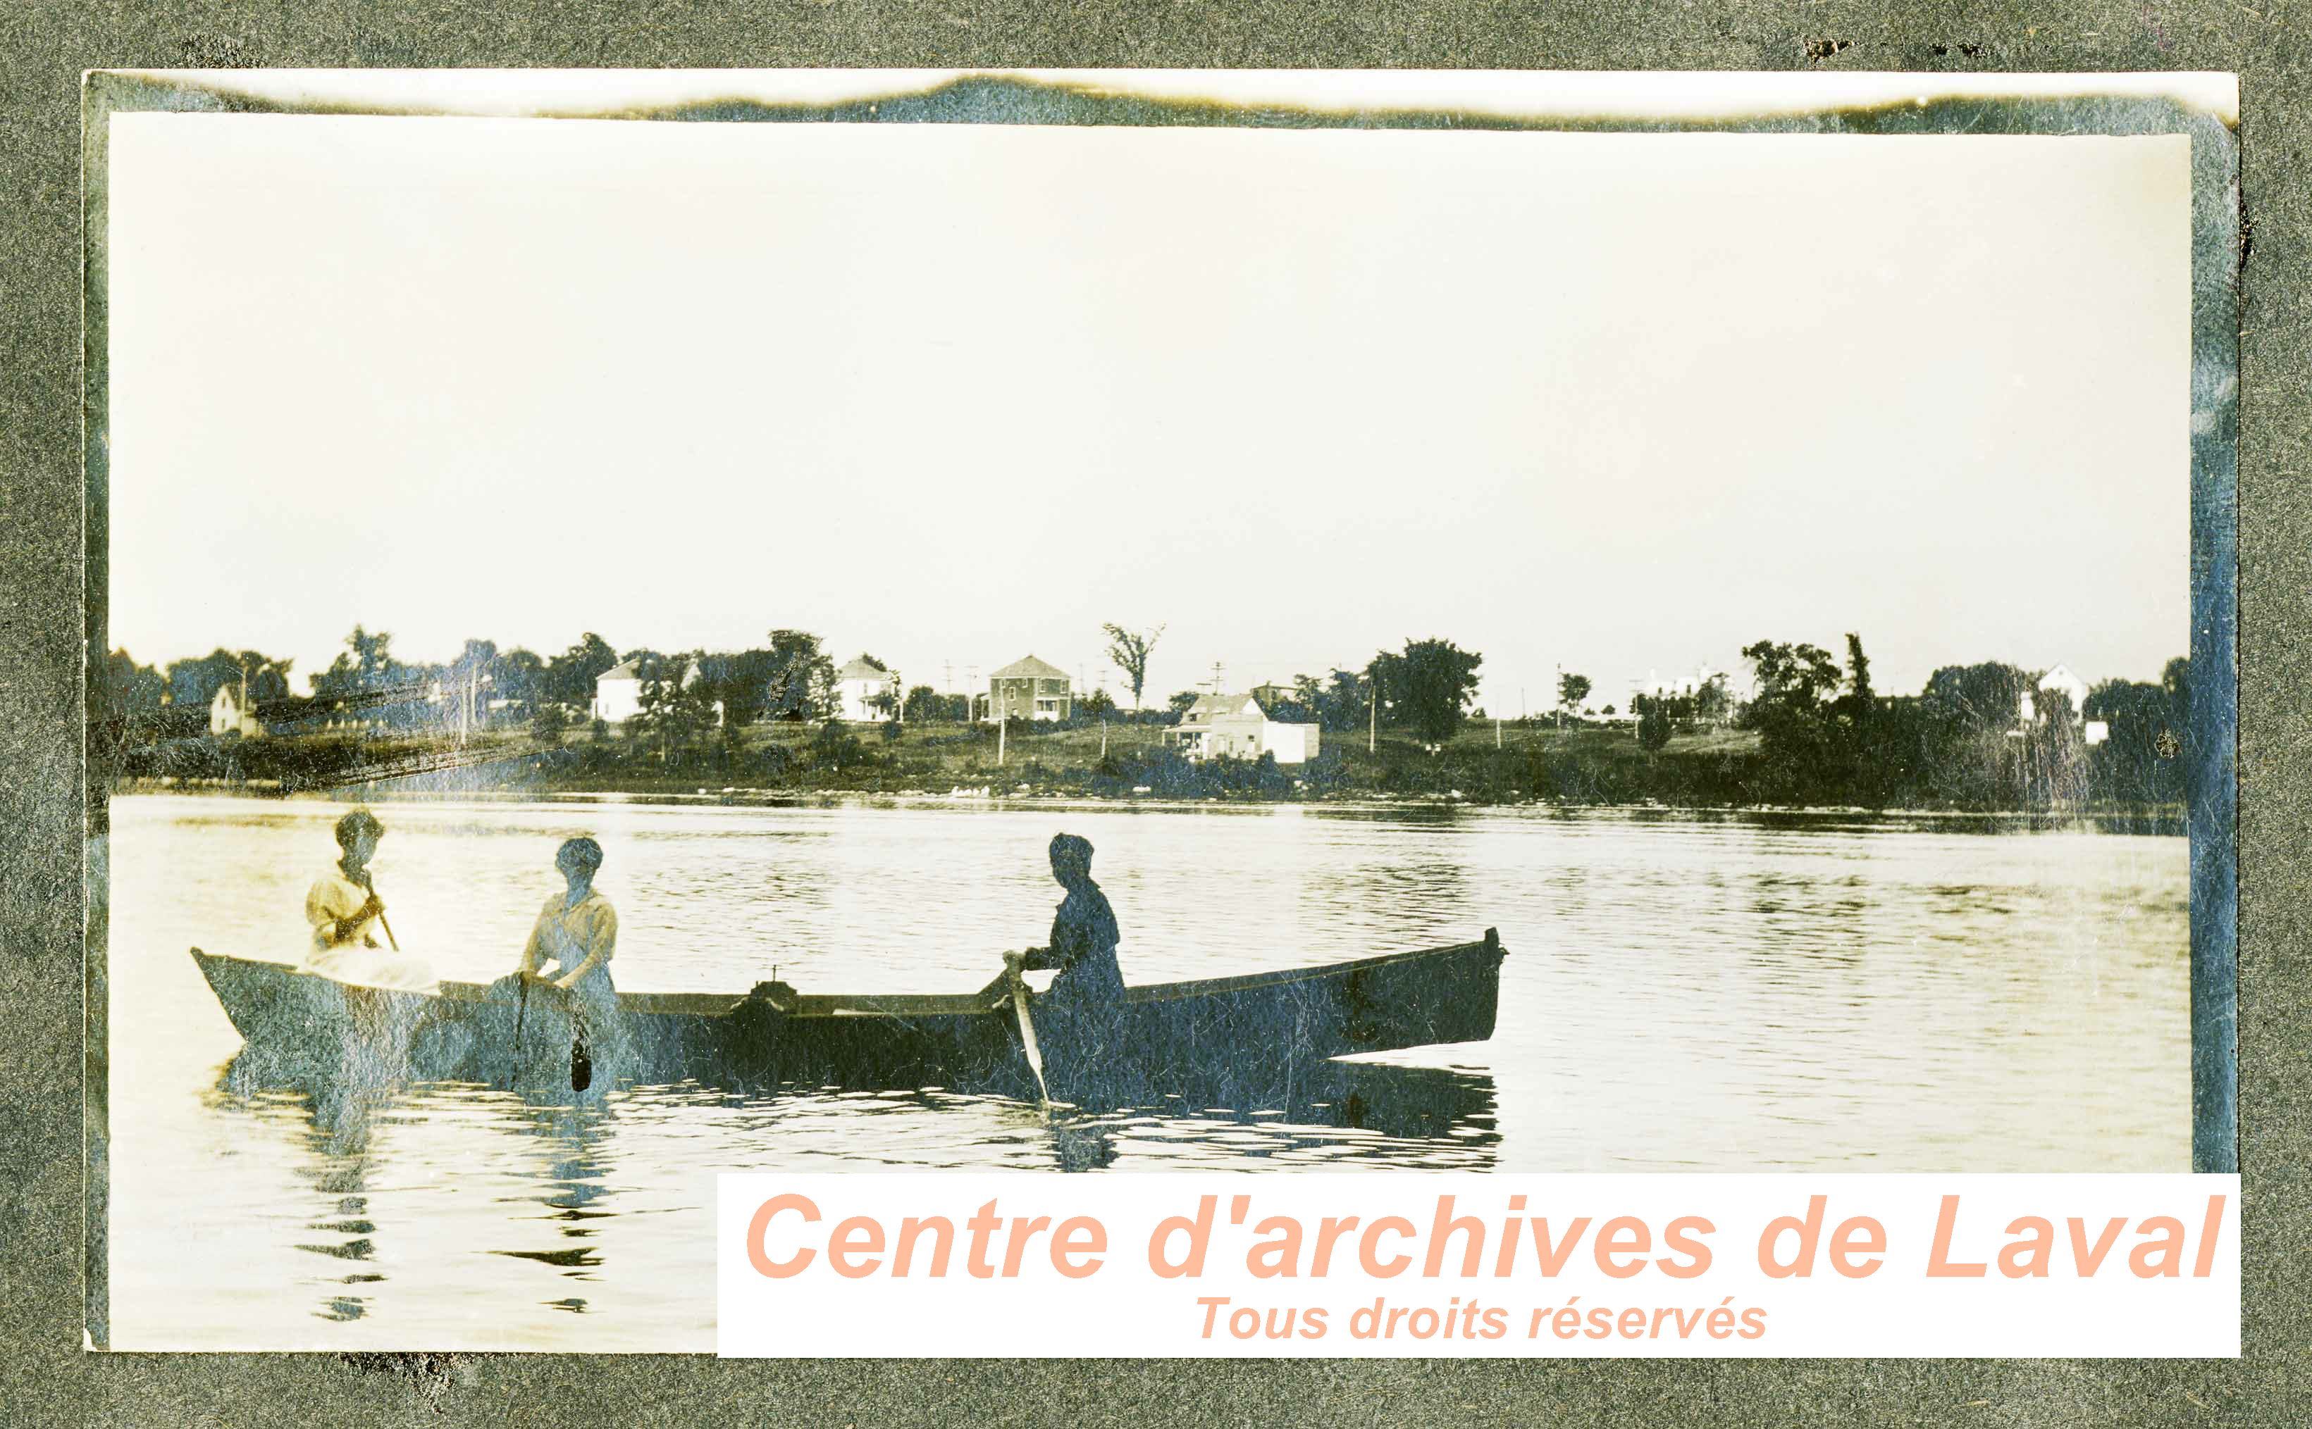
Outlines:
{"label": "long dark wooden rowboat carrying three seated people", "polygon": [[[1131,987],[1114,1006],[1038,997],[1031,1013],[1061,1101],[1121,1105],[1186,1087],[1205,1098],[1258,1098],[1329,1057],[1494,1036],[1503,955],[1487,930],[1447,948]],[[199,948],[192,957],[247,1052],[280,1068],[326,1071],[344,1064],[347,1045],[368,1045],[379,1073],[509,1087],[701,1080],[1036,1094],[1017,1017],[994,987],[939,997],[825,997],[786,983],[744,994],[622,992],[606,1020],[513,976],[423,994]]]}

